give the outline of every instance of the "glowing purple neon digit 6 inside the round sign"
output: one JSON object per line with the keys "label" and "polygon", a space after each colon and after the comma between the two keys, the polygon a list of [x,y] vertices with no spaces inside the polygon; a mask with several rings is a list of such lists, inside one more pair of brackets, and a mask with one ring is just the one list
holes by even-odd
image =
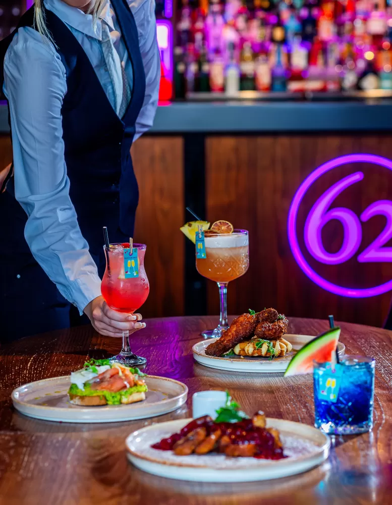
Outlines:
{"label": "glowing purple neon digit 6 inside the round sign", "polygon": [[[328,212],[326,210],[342,191],[362,180],[363,177],[362,172],[356,172],[333,184],[320,196],[309,212],[305,223],[304,238],[306,248],[317,261],[326,265],[344,263],[355,255],[361,245],[362,228],[357,215],[350,209],[344,208],[335,208]],[[339,220],[344,227],[342,247],[334,254],[324,249],[321,240],[321,230],[331,219]]]}

